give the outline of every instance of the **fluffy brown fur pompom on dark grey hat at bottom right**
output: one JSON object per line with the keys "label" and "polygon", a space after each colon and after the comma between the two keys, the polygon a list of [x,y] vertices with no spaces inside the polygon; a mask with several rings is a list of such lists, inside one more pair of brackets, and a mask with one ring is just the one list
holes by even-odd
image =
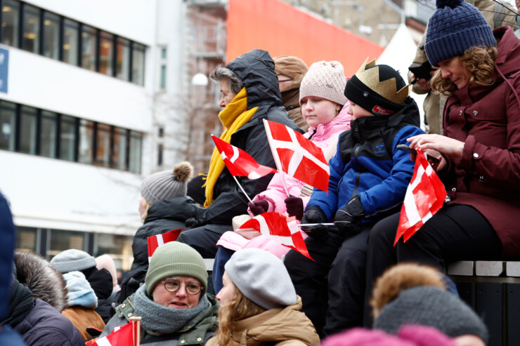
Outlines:
{"label": "fluffy brown fur pompom on dark grey hat at bottom right", "polygon": [[389,268],[375,282],[372,291],[372,314],[379,316],[384,305],[391,302],[401,291],[415,286],[434,286],[446,289],[442,274],[434,267],[416,263],[403,263]]}

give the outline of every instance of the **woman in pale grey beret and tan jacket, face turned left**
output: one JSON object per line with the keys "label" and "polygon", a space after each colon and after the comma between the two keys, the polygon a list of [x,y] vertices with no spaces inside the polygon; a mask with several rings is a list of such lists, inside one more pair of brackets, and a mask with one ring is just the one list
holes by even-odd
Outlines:
{"label": "woman in pale grey beret and tan jacket, face turned left", "polygon": [[282,261],[258,248],[237,251],[226,263],[219,331],[209,346],[318,345],[320,338],[301,312]]}

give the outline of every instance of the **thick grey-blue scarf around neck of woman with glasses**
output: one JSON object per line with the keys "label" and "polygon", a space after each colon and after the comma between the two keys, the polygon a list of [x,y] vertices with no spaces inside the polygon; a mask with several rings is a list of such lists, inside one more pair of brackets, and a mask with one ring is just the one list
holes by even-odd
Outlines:
{"label": "thick grey-blue scarf around neck of woman with glasses", "polygon": [[134,298],[134,312],[140,316],[141,325],[146,332],[152,335],[174,333],[185,326],[189,321],[209,307],[209,301],[204,295],[196,307],[191,309],[175,309],[165,307],[148,297],[145,285],[138,288]]}

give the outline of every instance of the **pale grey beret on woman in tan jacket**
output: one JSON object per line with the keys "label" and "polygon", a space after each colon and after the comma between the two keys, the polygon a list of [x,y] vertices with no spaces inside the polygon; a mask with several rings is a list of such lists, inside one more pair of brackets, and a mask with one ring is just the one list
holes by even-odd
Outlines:
{"label": "pale grey beret on woman in tan jacket", "polygon": [[285,307],[297,300],[285,265],[272,253],[245,248],[233,253],[224,269],[240,292],[264,309]]}

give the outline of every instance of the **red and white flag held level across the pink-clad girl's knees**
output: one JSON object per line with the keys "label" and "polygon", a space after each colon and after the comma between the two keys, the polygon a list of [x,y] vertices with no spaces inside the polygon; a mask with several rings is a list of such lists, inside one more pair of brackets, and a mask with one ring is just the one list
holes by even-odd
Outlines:
{"label": "red and white flag held level across the pink-clad girl's knees", "polygon": [[301,236],[294,216],[287,217],[281,213],[263,213],[244,222],[237,231],[251,229],[313,260],[311,255],[308,254],[304,237]]}

